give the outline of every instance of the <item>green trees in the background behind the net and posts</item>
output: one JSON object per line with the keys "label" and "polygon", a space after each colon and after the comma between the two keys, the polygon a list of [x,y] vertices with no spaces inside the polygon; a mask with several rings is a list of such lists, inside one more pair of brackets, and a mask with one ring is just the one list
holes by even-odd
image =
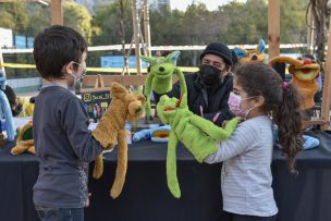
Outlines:
{"label": "green trees in the background behind the net and posts", "polygon": [[[65,1],[63,7],[64,25],[79,32],[90,46],[120,45],[121,13],[120,0],[102,4],[91,16],[88,11],[73,1]],[[125,42],[133,37],[131,1],[122,0],[124,5]],[[282,0],[281,7],[281,44],[306,42],[307,26],[305,21],[308,0]],[[35,36],[45,27],[50,26],[50,7],[36,2],[0,3],[0,26],[12,28],[14,35]],[[189,5],[185,12],[169,8],[150,10],[150,34],[154,46],[167,45],[207,45],[212,41],[224,44],[257,44],[258,39],[267,40],[268,35],[268,1],[247,0],[232,1],[208,11],[205,4]],[[144,24],[142,19],[142,30]],[[296,49],[297,50],[297,49]],[[90,52],[89,66],[99,66],[100,56],[122,54],[122,51]],[[131,52],[133,54],[133,51]],[[32,56],[20,58],[5,56],[5,61],[28,61]],[[199,51],[182,51],[179,65],[197,65]],[[10,57],[10,58],[8,58]],[[22,58],[21,58],[22,57]],[[10,70],[13,76],[23,76],[30,71]],[[33,73],[35,75],[35,72]]]}

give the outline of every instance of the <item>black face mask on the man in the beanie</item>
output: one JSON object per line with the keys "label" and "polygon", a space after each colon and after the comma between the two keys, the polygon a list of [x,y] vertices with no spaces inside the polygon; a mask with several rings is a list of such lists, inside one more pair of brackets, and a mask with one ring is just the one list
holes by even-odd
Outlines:
{"label": "black face mask on the man in the beanie", "polygon": [[217,86],[222,81],[222,72],[211,65],[203,64],[200,66],[199,75],[201,83],[206,87]]}

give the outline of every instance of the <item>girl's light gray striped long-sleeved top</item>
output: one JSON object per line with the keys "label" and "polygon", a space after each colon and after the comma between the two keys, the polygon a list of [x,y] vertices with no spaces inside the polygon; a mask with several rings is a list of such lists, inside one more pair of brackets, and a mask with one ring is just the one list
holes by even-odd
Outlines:
{"label": "girl's light gray striped long-sleeved top", "polygon": [[278,213],[273,198],[271,161],[272,130],[268,116],[238,124],[205,162],[224,161],[221,174],[223,210],[257,217]]}

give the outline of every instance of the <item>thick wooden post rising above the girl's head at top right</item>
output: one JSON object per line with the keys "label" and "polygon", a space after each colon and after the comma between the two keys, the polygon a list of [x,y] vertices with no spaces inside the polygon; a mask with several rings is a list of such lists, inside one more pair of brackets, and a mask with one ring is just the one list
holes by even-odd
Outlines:
{"label": "thick wooden post rising above the girl's head at top right", "polygon": [[268,53],[269,59],[280,54],[280,2],[269,0],[268,3]]}

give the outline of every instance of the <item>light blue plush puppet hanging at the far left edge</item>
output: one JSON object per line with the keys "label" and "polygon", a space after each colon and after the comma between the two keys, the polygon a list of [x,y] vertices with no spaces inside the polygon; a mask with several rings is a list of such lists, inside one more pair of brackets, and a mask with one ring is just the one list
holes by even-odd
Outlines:
{"label": "light blue plush puppet hanging at the far left edge", "polygon": [[[12,142],[15,139],[15,130],[14,130],[14,121],[13,121],[13,114],[11,111],[11,107],[9,105],[8,98],[3,90],[7,86],[7,79],[4,72],[0,69],[0,118],[2,119],[4,116],[5,119],[5,127],[7,127],[7,137],[8,140]],[[1,127],[0,127],[1,128]],[[4,143],[4,136],[1,131],[0,136],[0,143]]]}

